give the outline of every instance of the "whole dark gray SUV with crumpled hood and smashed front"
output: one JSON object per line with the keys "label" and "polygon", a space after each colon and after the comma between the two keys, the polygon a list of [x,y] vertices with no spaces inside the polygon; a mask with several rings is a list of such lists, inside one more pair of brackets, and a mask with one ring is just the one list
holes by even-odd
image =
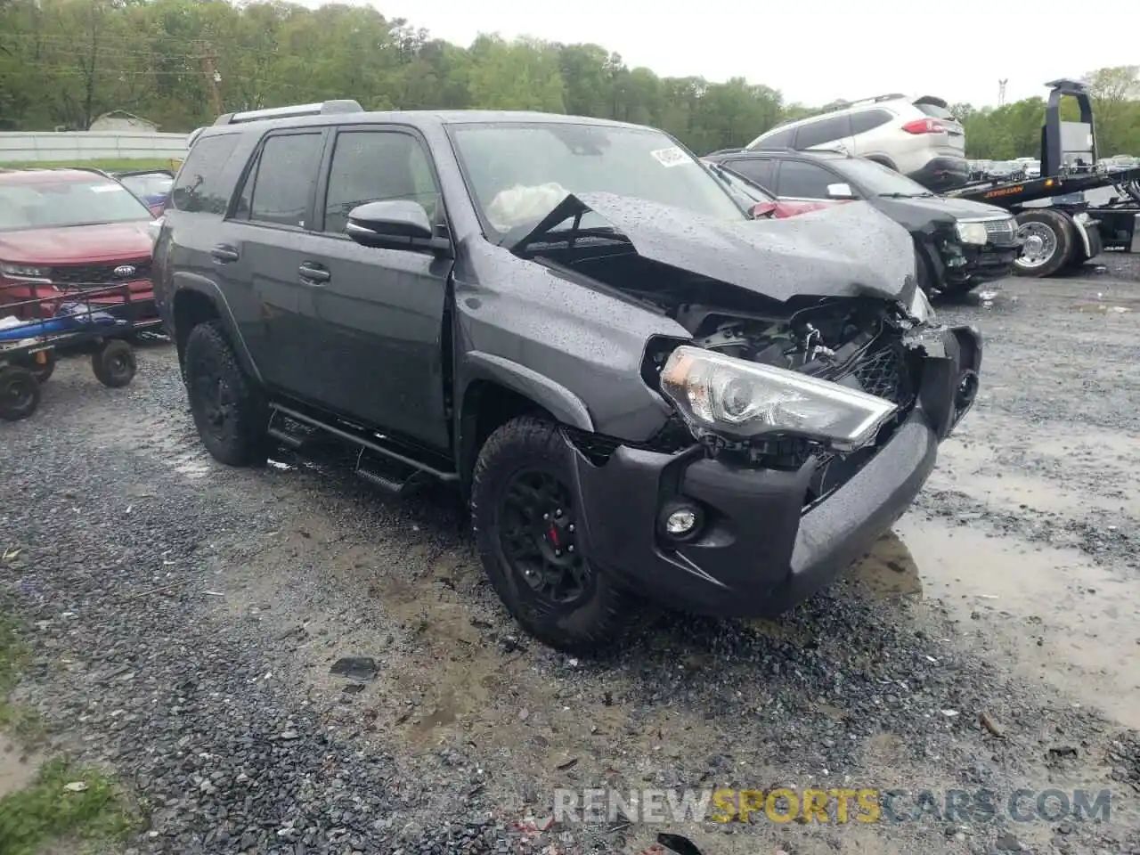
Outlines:
{"label": "whole dark gray SUV with crumpled hood and smashed front", "polygon": [[784,610],[905,511],[982,358],[913,258],[863,203],[754,219],[649,128],[328,101],[198,132],[154,269],[214,457],[456,482],[512,614],[588,652],[642,597]]}

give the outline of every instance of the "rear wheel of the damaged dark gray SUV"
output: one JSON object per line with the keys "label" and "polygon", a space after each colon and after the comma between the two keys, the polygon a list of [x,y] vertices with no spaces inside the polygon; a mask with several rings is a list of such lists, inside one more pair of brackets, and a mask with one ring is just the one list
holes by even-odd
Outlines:
{"label": "rear wheel of the damaged dark gray SUV", "polygon": [[[198,324],[190,331],[182,361],[190,414],[206,450],[229,466],[264,463],[268,413],[260,390],[242,370],[220,321]],[[226,397],[220,422],[213,418],[214,405],[206,397],[213,384],[218,394]]]}

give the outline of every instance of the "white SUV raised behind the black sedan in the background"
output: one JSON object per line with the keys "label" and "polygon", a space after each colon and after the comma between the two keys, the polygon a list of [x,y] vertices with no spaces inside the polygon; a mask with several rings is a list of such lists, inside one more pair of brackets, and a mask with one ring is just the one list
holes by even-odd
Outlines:
{"label": "white SUV raised behind the black sedan in the background", "polygon": [[950,190],[970,178],[966,132],[942,98],[880,95],[823,115],[773,128],[748,144],[751,150],[842,147],[881,163],[923,187]]}

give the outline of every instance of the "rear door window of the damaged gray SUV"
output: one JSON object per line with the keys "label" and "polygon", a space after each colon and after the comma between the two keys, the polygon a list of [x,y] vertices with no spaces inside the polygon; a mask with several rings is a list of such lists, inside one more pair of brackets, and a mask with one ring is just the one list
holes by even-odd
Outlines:
{"label": "rear door window of the damaged gray SUV", "polygon": [[[249,195],[251,221],[307,227],[320,172],[323,136],[320,131],[280,133],[266,140],[256,168],[246,178],[246,184],[253,182]],[[244,190],[242,196],[244,202]]]}

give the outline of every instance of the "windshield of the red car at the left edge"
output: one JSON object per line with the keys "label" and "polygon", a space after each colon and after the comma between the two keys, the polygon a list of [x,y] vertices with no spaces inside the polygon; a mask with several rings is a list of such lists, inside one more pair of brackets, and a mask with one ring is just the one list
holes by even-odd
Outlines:
{"label": "windshield of the red car at the left edge", "polygon": [[116,181],[0,185],[0,231],[149,220],[150,212]]}

